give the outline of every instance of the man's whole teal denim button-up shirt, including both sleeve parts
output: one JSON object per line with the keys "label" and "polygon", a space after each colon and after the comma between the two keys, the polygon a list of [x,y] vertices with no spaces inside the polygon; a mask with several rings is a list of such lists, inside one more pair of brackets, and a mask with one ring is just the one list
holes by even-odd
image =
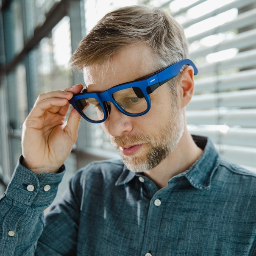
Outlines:
{"label": "man's whole teal denim button-up shirt, including both sleeve parts", "polygon": [[120,159],[97,161],[71,178],[45,220],[65,167],[35,175],[19,161],[0,199],[0,255],[255,256],[256,174],[193,139],[203,154],[166,187]]}

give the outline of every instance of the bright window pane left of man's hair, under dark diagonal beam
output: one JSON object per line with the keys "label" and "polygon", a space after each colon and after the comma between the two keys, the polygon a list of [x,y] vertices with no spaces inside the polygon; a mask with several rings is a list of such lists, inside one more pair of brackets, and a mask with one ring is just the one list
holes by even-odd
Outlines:
{"label": "bright window pane left of man's hair, under dark diagonal beam", "polygon": [[64,17],[37,48],[38,82],[36,95],[72,86],[70,19]]}

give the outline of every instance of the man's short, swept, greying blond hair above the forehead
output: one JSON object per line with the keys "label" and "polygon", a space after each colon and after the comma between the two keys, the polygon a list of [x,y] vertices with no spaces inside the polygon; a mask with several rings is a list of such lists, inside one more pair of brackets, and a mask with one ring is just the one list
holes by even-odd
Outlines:
{"label": "man's short, swept, greying blond hair above the forehead", "polygon": [[[128,6],[100,19],[82,39],[70,63],[77,70],[107,64],[122,48],[141,44],[151,48],[154,70],[189,58],[184,30],[173,17],[158,8]],[[178,79],[173,78],[170,86]]]}

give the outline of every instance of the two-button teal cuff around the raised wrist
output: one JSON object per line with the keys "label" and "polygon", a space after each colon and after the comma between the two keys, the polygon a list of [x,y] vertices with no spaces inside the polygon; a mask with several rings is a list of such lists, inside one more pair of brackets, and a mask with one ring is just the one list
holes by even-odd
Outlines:
{"label": "two-button teal cuff around the raised wrist", "polygon": [[21,161],[22,156],[6,189],[6,197],[25,205],[52,203],[57,194],[58,184],[66,171],[65,165],[60,167],[58,173],[36,175],[24,167]]}

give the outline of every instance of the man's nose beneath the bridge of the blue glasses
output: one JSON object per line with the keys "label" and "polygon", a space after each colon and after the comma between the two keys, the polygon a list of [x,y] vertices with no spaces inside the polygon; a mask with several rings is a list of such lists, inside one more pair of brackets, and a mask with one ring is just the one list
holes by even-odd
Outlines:
{"label": "man's nose beneath the bridge of the blue glasses", "polygon": [[123,133],[131,132],[133,129],[131,117],[122,114],[112,103],[109,107],[111,111],[109,111],[109,116],[104,122],[108,133],[113,137],[117,137]]}

